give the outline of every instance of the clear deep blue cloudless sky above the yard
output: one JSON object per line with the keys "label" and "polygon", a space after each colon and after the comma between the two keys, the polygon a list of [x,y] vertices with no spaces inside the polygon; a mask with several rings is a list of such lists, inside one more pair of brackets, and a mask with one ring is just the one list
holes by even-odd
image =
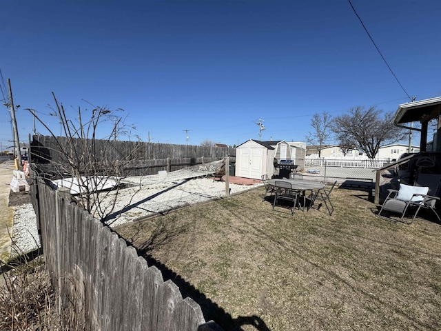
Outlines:
{"label": "clear deep blue cloudless sky above the yard", "polygon": [[258,139],[258,119],[263,140],[305,141],[314,113],[440,96],[441,2],[351,2],[406,92],[347,0],[2,1],[0,69],[20,140],[33,130],[24,108],[59,132],[52,92],[72,119],[90,103],[123,108],[143,141],[185,144],[188,130],[194,145]]}

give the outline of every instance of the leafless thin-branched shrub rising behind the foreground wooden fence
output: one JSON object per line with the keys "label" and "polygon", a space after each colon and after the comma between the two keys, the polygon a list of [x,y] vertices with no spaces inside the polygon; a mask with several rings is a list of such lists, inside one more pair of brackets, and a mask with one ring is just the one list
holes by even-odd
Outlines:
{"label": "leafless thin-branched shrub rising behind the foreground wooden fence", "polygon": [[[127,144],[125,150],[116,150],[116,139],[128,137],[134,126],[125,124],[124,119],[117,115],[121,109],[109,110],[107,106],[90,110],[78,109],[77,118],[72,121],[54,93],[55,106],[52,116],[58,117],[64,137],[59,137],[37,115],[33,114],[52,135],[57,146],[58,161],[50,161],[51,168],[65,178],[65,186],[78,187],[74,199],[94,217],[106,223],[113,213],[119,197],[121,179],[127,172],[128,165],[133,161],[140,149],[141,141],[136,138],[132,144]],[[99,127],[104,122],[110,123],[110,132],[99,139]],[[44,168],[41,172],[47,172]],[[73,184],[73,185],[72,185]],[[110,187],[113,190],[101,190]],[[114,214],[114,213],[113,213]],[[109,222],[107,222],[109,223]]]}

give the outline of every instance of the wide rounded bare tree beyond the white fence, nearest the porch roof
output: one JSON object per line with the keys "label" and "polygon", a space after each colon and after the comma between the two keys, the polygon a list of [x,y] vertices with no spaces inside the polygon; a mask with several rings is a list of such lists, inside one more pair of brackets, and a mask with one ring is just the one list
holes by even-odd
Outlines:
{"label": "wide rounded bare tree beyond the white fence, nearest the porch roof", "polygon": [[338,141],[351,143],[373,159],[380,146],[404,139],[406,132],[393,125],[393,112],[385,112],[376,106],[365,109],[357,106],[347,114],[334,118],[331,129]]}

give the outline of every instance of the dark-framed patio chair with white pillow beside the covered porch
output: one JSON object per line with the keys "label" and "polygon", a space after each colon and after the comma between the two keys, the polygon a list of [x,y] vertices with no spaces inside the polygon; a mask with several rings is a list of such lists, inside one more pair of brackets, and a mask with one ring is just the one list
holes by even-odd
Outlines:
{"label": "dark-framed patio chair with white pillow beside the covered porch", "polygon": [[[389,194],[384,200],[378,216],[382,219],[391,221],[401,221],[411,224],[415,221],[421,208],[431,210],[438,221],[441,222],[436,205],[440,201],[441,175],[439,174],[418,174],[415,185],[406,185],[400,183],[399,190],[388,190]],[[409,209],[410,207],[410,209]],[[408,210],[415,210],[415,214],[410,221],[405,221],[404,217]],[[393,212],[400,214],[399,219],[385,216],[385,213]]]}

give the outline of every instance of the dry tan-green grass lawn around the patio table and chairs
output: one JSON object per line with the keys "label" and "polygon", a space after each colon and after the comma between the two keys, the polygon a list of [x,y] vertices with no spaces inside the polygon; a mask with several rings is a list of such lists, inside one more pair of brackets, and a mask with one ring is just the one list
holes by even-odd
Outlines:
{"label": "dry tan-green grass lawn around the patio table and chairs", "polygon": [[[367,192],[294,216],[263,188],[118,230],[224,330],[441,330],[441,225],[375,216]],[[430,216],[430,214],[428,214]]]}

